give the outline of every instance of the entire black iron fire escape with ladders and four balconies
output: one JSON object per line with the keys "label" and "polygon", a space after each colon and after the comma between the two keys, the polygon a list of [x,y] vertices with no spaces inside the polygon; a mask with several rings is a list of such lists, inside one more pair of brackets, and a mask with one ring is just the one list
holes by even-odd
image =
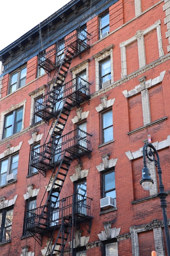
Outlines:
{"label": "entire black iron fire escape with ladders and four balconies", "polygon": [[84,79],[76,77],[64,83],[71,60],[90,48],[89,36],[85,30],[78,28],[66,36],[64,41],[57,42],[56,45],[60,46],[57,46],[60,53],[57,62],[56,45],[46,49],[43,57],[40,53],[39,58],[40,67],[46,72],[55,70],[55,79],[49,92],[35,102],[35,115],[41,117],[46,124],[52,119],[52,124],[49,129],[51,135],[47,136],[44,145],[32,150],[31,166],[37,168],[44,176],[51,170],[52,175],[47,186],[51,189],[44,205],[41,203],[40,207],[27,211],[26,230],[40,245],[42,236],[51,239],[46,251],[46,255],[51,256],[57,253],[64,255],[66,242],[71,236],[73,238],[73,232],[79,228],[80,223],[88,232],[91,228],[91,198],[73,194],[59,200],[71,161],[77,159],[79,162],[82,155],[88,158],[91,155],[91,135],[87,132],[76,128],[62,135],[71,109],[79,107],[84,101],[88,103],[90,99],[90,84]]}

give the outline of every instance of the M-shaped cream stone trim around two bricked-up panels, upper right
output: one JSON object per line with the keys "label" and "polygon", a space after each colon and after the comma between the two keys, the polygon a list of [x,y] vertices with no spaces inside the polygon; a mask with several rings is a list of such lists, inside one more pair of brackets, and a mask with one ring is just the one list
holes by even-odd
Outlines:
{"label": "M-shaped cream stone trim around two bricked-up panels, upper right", "polygon": [[155,24],[151,25],[147,29],[141,31],[138,30],[135,36],[132,36],[128,40],[120,43],[121,49],[121,77],[127,75],[127,60],[126,60],[126,46],[137,40],[138,45],[138,57],[139,57],[139,68],[146,65],[146,56],[145,56],[145,45],[144,45],[144,36],[150,33],[152,30],[157,29],[157,40],[158,40],[158,49],[159,49],[159,58],[164,55],[163,46],[162,46],[162,37],[161,37],[161,20],[157,20]]}

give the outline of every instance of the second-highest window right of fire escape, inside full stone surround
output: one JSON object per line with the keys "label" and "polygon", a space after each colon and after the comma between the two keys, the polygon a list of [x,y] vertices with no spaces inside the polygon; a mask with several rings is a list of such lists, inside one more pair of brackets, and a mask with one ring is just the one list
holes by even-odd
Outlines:
{"label": "second-highest window right of fire escape, inside full stone surround", "polygon": [[111,61],[110,58],[100,63],[101,85],[104,88],[111,82]]}

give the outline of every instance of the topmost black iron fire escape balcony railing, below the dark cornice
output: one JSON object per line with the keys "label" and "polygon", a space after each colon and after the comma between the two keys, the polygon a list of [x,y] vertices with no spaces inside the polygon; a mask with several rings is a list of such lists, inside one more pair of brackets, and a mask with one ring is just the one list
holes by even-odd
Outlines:
{"label": "topmost black iron fire escape balcony railing, below the dark cornice", "polygon": [[[46,72],[51,72],[62,63],[62,55],[68,46],[71,47],[71,57],[79,55],[90,48],[90,34],[78,27],[68,36],[56,42],[55,45],[48,47],[39,53],[38,65]],[[68,49],[69,54],[69,49]]]}

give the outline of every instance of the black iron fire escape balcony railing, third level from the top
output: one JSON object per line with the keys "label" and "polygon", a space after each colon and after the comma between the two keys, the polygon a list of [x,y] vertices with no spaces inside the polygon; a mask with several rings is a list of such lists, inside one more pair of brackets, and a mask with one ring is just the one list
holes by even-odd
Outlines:
{"label": "black iron fire escape balcony railing, third level from the top", "polygon": [[79,128],[60,137],[52,137],[51,141],[32,150],[31,166],[47,171],[60,163],[66,151],[72,159],[91,153],[91,135]]}

